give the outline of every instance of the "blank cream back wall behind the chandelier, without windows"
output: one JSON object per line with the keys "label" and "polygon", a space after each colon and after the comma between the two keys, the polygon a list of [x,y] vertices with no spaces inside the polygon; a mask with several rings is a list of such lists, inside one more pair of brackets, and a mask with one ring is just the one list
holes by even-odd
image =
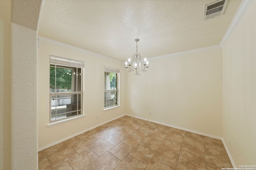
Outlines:
{"label": "blank cream back wall behind the chandelier, without windows", "polygon": [[140,76],[127,73],[128,113],[222,137],[222,49],[149,62]]}

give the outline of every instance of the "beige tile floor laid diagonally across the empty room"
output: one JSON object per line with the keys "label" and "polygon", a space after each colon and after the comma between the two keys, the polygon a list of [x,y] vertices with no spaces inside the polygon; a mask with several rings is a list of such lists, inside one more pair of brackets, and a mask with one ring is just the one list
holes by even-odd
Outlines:
{"label": "beige tile floor laid diagonally across the empty room", "polygon": [[221,140],[130,116],[38,152],[39,170],[221,170]]}

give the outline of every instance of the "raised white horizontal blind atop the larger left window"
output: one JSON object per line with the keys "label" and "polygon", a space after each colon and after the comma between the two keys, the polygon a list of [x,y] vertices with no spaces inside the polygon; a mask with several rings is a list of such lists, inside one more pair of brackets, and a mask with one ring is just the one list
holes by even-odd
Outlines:
{"label": "raised white horizontal blind atop the larger left window", "polygon": [[84,68],[83,61],[66,59],[63,57],[57,57],[57,56],[53,56],[53,55],[50,55],[50,64]]}

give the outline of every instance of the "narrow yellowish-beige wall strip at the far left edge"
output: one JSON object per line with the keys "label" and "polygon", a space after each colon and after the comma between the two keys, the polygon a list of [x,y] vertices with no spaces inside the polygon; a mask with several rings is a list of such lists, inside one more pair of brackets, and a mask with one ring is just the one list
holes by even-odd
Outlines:
{"label": "narrow yellowish-beige wall strip at the far left edge", "polygon": [[11,2],[0,1],[0,169],[10,169]]}

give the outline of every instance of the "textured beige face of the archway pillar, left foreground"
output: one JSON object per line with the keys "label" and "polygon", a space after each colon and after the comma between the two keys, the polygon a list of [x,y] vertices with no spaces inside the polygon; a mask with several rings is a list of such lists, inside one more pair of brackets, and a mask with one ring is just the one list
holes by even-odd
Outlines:
{"label": "textured beige face of the archway pillar, left foreground", "polygon": [[37,31],[15,23],[11,27],[12,169],[37,169]]}

